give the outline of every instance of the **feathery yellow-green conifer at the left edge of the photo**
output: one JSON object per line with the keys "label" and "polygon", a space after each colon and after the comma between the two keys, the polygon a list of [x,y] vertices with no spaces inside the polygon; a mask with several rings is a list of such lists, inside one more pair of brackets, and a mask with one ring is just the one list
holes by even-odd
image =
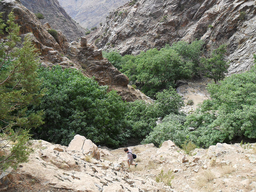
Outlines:
{"label": "feathery yellow-green conifer at the left edge of the photo", "polygon": [[19,26],[13,12],[8,17],[7,25],[0,20],[1,34],[6,27],[9,39],[0,48],[0,171],[27,161],[32,152],[29,129],[42,124],[42,111],[27,113],[28,105],[39,104],[43,94],[35,72],[38,53],[28,36],[22,48],[15,47]]}

